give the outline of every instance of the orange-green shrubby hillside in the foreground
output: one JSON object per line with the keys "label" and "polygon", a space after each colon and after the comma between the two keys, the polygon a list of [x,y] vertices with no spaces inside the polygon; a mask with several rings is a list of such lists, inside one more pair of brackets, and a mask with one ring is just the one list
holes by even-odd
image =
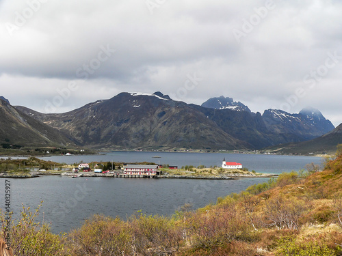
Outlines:
{"label": "orange-green shrubby hillside in the foreground", "polygon": [[[55,235],[23,208],[15,255],[342,255],[342,155],[324,171],[283,173],[215,205],[184,205],[171,218],[94,215]],[[0,220],[3,236],[4,214]]]}

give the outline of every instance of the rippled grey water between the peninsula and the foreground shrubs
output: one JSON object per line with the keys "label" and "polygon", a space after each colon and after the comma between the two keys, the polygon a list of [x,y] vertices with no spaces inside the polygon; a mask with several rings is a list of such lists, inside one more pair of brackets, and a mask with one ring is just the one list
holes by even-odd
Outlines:
{"label": "rippled grey water between the peninsula and the foreground shrubs", "polygon": [[[9,179],[12,184],[11,207],[18,216],[22,205],[36,208],[40,218],[51,223],[53,232],[80,227],[93,214],[126,218],[142,210],[146,214],[170,216],[184,203],[201,208],[218,197],[238,193],[267,178],[241,180],[174,180],[109,177],[46,176],[34,179]],[[0,180],[5,187],[5,180]],[[5,199],[1,195],[4,208]]]}

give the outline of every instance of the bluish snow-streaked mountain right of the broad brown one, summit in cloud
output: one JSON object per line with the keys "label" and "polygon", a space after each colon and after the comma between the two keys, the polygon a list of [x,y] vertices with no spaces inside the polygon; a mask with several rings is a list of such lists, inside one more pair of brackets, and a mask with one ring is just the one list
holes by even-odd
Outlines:
{"label": "bluish snow-streaked mountain right of the broad brown one, summit in cloud", "polygon": [[269,109],[261,115],[259,112],[255,114],[231,109],[207,109],[196,105],[193,107],[207,115],[231,136],[253,145],[254,149],[307,141],[334,128],[321,128],[326,119],[321,120],[324,123],[321,125],[319,122],[313,123],[306,115],[289,114],[280,110]]}

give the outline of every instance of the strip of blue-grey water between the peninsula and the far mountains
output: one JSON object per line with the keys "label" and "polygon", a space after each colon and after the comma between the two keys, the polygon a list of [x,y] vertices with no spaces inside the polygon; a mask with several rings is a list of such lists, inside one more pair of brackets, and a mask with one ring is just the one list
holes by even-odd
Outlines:
{"label": "strip of blue-grey water between the peninsula and the far mountains", "polygon": [[[160,158],[153,158],[160,156]],[[114,161],[114,162],[155,162],[160,165],[205,165],[213,167],[222,165],[223,158],[227,162],[240,162],[243,167],[250,171],[261,173],[282,173],[284,171],[298,171],[306,164],[314,162],[321,164],[321,158],[313,156],[278,156],[264,154],[224,154],[224,153],[179,153],[179,152],[107,152],[102,155],[92,156],[50,156],[43,157],[43,160],[54,162],[65,162],[73,164],[75,162],[93,161]]]}

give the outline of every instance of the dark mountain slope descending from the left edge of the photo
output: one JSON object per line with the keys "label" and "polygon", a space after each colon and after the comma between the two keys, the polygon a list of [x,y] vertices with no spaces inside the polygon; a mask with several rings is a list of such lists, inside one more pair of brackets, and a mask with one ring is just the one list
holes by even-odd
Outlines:
{"label": "dark mountain slope descending from the left edge of the photo", "polygon": [[66,146],[73,141],[59,130],[42,124],[0,99],[0,144],[31,146]]}

